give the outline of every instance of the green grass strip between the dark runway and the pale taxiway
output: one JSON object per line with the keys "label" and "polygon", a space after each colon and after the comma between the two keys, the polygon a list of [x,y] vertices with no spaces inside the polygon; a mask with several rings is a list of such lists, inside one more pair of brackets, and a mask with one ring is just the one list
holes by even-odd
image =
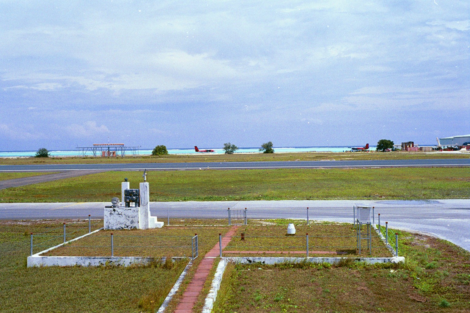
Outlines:
{"label": "green grass strip between the dark runway and the pale taxiway", "polygon": [[[2,202],[91,202],[120,197],[138,172],[103,172],[8,188]],[[150,201],[470,198],[470,168],[151,171]]]}

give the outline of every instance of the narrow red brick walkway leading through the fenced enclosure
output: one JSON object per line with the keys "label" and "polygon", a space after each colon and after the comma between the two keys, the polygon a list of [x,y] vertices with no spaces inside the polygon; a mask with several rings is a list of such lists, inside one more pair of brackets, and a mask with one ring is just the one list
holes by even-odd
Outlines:
{"label": "narrow red brick walkway leading through the fenced enclosure", "polygon": [[[235,231],[238,229],[238,226],[232,226],[230,230],[222,237],[222,249],[227,246],[227,244],[232,239],[232,236],[235,234]],[[214,245],[214,247],[207,252],[204,256],[204,259],[199,263],[199,266],[196,269],[196,274],[194,274],[193,279],[189,282],[188,288],[183,293],[183,298],[181,298],[180,303],[176,306],[174,313],[192,313],[193,306],[196,304],[197,296],[201,292],[204,286],[204,282],[209,276],[209,271],[214,264],[213,257],[219,256],[219,243]]]}

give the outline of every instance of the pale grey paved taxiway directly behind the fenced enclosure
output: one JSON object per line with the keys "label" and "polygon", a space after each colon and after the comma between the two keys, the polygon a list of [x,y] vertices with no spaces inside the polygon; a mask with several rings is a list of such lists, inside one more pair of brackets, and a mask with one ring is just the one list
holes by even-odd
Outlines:
{"label": "pale grey paved taxiway directly behind the fenced enclosure", "polygon": [[[0,219],[102,218],[103,207],[111,203],[0,203]],[[470,200],[301,200],[151,202],[150,211],[160,221],[170,218],[227,218],[227,208],[248,208],[248,218],[306,218],[320,221],[352,222],[352,206],[375,206],[381,224],[430,233],[470,251]],[[377,223],[376,219],[376,223]]]}

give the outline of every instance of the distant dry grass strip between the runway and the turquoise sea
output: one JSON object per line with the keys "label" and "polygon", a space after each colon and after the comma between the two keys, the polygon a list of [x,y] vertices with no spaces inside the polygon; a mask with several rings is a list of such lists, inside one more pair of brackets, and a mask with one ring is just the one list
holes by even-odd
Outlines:
{"label": "distant dry grass strip between the runway and the turquoise sea", "polygon": [[159,155],[139,157],[54,157],[54,158],[0,158],[0,165],[23,164],[114,164],[114,163],[166,163],[166,162],[253,162],[253,161],[314,161],[314,160],[415,160],[465,159],[469,153],[439,152],[297,152],[297,153],[235,153],[196,155]]}

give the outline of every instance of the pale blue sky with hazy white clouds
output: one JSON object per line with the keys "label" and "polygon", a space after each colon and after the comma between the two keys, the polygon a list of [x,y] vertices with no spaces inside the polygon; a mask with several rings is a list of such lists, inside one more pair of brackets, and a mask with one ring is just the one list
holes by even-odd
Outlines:
{"label": "pale blue sky with hazy white clouds", "polygon": [[470,133],[468,0],[0,0],[0,151]]}

